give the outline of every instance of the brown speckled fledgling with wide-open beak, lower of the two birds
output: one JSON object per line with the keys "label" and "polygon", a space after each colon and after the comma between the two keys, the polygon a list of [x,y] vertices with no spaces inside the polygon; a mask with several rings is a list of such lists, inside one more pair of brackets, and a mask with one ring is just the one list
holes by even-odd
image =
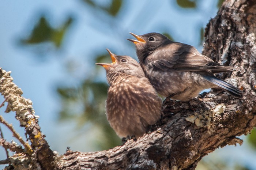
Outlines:
{"label": "brown speckled fledgling with wide-open beak, lower of the two birds", "polygon": [[109,83],[107,119],[119,137],[138,138],[160,118],[162,100],[136,60],[108,52],[113,63],[96,63],[106,69]]}

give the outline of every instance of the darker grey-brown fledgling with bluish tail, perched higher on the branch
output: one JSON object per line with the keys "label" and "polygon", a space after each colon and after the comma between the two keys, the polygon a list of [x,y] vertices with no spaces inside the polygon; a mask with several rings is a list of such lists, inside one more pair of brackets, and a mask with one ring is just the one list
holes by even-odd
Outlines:
{"label": "darker grey-brown fledgling with bluish tail, perched higher on the branch", "polygon": [[173,42],[159,33],[130,34],[137,39],[128,40],[136,45],[146,77],[164,97],[189,101],[200,91],[218,86],[242,98],[244,92],[214,76],[214,73],[233,71],[233,67],[217,64],[195,47]]}

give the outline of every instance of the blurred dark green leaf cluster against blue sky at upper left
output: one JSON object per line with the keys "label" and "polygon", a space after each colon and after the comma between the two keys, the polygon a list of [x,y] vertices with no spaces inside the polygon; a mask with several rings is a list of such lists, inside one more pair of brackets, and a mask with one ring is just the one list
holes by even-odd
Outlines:
{"label": "blurred dark green leaf cluster against blue sky at upper left", "polygon": [[20,42],[24,45],[52,42],[59,48],[63,42],[64,35],[72,22],[73,19],[69,17],[59,28],[54,29],[50,26],[48,20],[44,16],[41,16],[29,37],[20,39]]}

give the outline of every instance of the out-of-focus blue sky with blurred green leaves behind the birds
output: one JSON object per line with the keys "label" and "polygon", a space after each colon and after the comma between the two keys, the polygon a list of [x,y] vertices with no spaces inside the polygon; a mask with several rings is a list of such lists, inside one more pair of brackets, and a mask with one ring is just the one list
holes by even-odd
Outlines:
{"label": "out-of-focus blue sky with blurred green leaves behind the birds", "polygon": [[[134,45],[126,40],[133,38],[129,32],[158,32],[201,51],[204,27],[222,1],[2,0],[0,67],[12,71],[23,96],[33,101],[52,150],[109,149],[121,140],[106,120],[105,70],[95,65],[111,62],[105,48],[136,58]],[[4,110],[0,114],[25,138],[14,113]],[[1,128],[11,141],[8,129]],[[205,156],[197,170],[256,170],[255,133],[242,136],[242,146]],[[5,158],[1,147],[0,159]]]}

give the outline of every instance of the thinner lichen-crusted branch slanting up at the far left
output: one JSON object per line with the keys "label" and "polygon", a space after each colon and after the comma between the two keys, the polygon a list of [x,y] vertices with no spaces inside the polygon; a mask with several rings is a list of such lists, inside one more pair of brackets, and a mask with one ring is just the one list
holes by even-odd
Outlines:
{"label": "thinner lichen-crusted branch slanting up at the far left", "polygon": [[[22,90],[18,88],[12,80],[10,72],[6,72],[0,68],[0,93],[8,103],[5,112],[15,112],[15,117],[19,120],[20,126],[25,127],[26,133],[29,135],[33,150],[28,149],[24,154],[31,155],[32,153],[32,156],[36,155],[43,169],[52,170],[54,167],[49,162],[53,162],[55,155],[53,151],[50,150],[45,140],[45,135],[40,131],[38,116],[34,114],[32,102],[21,96],[23,93]],[[33,169],[32,166],[33,165],[31,165],[31,169]],[[35,168],[37,166],[38,165],[35,164]]]}

